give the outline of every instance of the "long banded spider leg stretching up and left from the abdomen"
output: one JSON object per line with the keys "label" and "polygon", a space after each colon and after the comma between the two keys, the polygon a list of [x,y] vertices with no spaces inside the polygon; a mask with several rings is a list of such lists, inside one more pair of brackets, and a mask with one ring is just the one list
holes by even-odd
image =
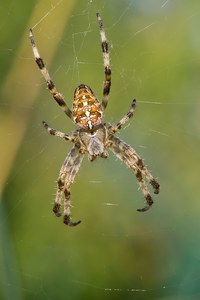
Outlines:
{"label": "long banded spider leg stretching up and left from the abdomen", "polygon": [[47,83],[47,87],[50,90],[53,98],[56,100],[56,102],[58,103],[58,105],[64,110],[64,112],[66,113],[66,115],[72,119],[72,112],[69,109],[69,107],[67,106],[67,104],[65,103],[65,100],[63,98],[63,96],[57,91],[55,84],[53,83],[53,81],[51,80],[51,77],[49,75],[49,72],[44,64],[43,59],[40,57],[39,51],[37,49],[37,46],[35,44],[35,40],[33,37],[33,31],[32,29],[30,29],[29,31],[29,37],[30,37],[30,41],[31,41],[31,46],[32,46],[32,50],[33,50],[33,55],[35,57],[35,61],[44,77],[44,79],[46,80]]}

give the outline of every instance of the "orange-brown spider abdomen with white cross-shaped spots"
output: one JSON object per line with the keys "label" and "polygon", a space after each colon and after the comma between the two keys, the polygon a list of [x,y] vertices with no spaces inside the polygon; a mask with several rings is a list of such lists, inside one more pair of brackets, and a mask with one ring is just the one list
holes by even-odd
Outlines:
{"label": "orange-brown spider abdomen with white cross-shaped spots", "polygon": [[81,84],[76,88],[72,115],[74,122],[85,129],[101,124],[102,107],[89,86]]}

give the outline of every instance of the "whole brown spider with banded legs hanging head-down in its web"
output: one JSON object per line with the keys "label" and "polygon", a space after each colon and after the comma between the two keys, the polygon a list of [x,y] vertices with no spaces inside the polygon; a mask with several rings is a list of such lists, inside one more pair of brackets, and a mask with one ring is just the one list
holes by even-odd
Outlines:
{"label": "whole brown spider with banded legs hanging head-down in its web", "polygon": [[[70,188],[75,176],[79,171],[84,154],[88,155],[90,161],[94,161],[98,156],[107,158],[107,150],[110,149],[122,162],[128,166],[136,176],[139,186],[146,200],[143,208],[137,209],[139,212],[147,211],[153,204],[153,199],[149,193],[146,181],[153,187],[154,193],[159,193],[159,183],[154,179],[147,167],[144,165],[140,156],[127,143],[115,136],[127,121],[133,117],[136,100],[131,104],[127,114],[115,125],[103,122],[103,115],[108,104],[108,96],[111,87],[111,67],[108,51],[108,42],[103,27],[103,22],[99,13],[96,14],[103,52],[103,63],[105,80],[103,82],[103,97],[101,103],[86,84],[80,84],[74,91],[74,102],[72,111],[67,106],[63,96],[56,89],[51,80],[49,72],[40,57],[39,51],[34,41],[32,29],[30,29],[30,41],[35,61],[47,83],[53,98],[64,110],[65,114],[77,125],[78,129],[70,135],[60,132],[43,121],[47,132],[51,135],[60,137],[65,141],[72,142],[73,148],[67,155],[57,180],[57,193],[53,212],[57,217],[61,216],[61,204],[64,200],[64,223],[69,226],[76,226],[81,221],[73,222],[71,219],[71,200]],[[145,181],[146,180],[146,181]]]}

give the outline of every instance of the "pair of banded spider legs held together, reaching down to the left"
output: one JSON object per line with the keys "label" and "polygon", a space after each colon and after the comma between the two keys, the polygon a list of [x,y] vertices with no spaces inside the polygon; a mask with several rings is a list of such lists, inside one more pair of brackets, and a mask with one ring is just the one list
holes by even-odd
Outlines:
{"label": "pair of banded spider legs held together, reaching down to the left", "polygon": [[53,212],[57,217],[61,216],[60,207],[62,197],[64,197],[64,223],[69,226],[76,226],[81,221],[71,221],[71,201],[70,201],[70,187],[74,182],[75,176],[80,168],[83,159],[83,154],[79,152],[79,148],[74,146],[63,166],[61,167],[60,174],[57,181],[57,193]]}

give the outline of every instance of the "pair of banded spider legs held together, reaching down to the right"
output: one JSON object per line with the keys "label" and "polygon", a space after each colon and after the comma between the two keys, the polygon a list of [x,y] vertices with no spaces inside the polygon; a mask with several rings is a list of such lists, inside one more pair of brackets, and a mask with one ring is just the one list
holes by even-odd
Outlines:
{"label": "pair of banded spider legs held together, reaching down to the right", "polygon": [[131,146],[115,136],[112,136],[110,140],[111,150],[121,161],[123,161],[131,170],[133,170],[143,192],[146,200],[146,206],[138,209],[138,211],[147,211],[153,204],[153,199],[149,193],[144,178],[146,178],[146,180],[152,185],[155,194],[159,193],[159,183],[153,178],[149,170],[144,166],[140,156]]}

